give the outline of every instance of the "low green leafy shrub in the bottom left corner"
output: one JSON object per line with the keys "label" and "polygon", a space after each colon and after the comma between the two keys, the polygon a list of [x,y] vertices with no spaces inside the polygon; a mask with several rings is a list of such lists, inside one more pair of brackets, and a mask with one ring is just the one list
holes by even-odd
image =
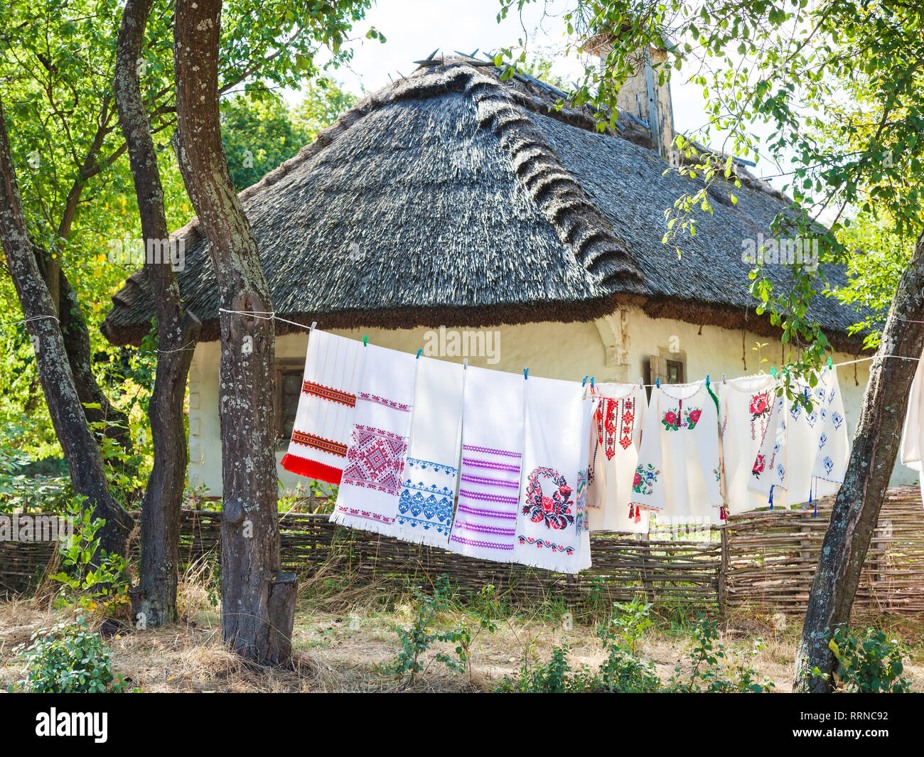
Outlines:
{"label": "low green leafy shrub in the bottom left corner", "polygon": [[125,683],[112,670],[109,650],[100,634],[78,618],[62,623],[50,633],[32,634],[30,645],[16,648],[29,664],[28,678],[10,687],[32,693],[93,693],[122,691]]}

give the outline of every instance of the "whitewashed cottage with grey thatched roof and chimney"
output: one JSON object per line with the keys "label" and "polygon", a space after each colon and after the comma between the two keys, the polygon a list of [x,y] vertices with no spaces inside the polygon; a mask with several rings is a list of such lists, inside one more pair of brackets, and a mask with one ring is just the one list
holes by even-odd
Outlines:
{"label": "whitewashed cottage with grey thatched roof and chimney", "polygon": [[[664,211],[692,180],[665,173],[669,88],[652,90],[649,77],[646,99],[644,87],[626,88],[635,103],[601,133],[589,113],[555,110],[558,93],[537,79],[502,80],[468,57],[423,62],[241,193],[274,310],[385,347],[563,379],[714,381],[779,365],[780,332],[755,313],[742,251],[770,236],[784,198],[736,165],[743,186],[710,189],[696,236],[663,244]],[[189,483],[220,494],[213,268],[195,221],[175,237],[183,297],[203,322]],[[780,286],[790,280],[787,265],[769,268]],[[845,283],[842,270],[825,273]],[[138,344],[153,315],[143,271],[113,302],[103,333]],[[856,358],[857,312],[835,298],[813,307],[835,362]],[[308,334],[279,323],[277,335],[281,458]],[[851,430],[868,365],[840,374]],[[281,468],[280,478],[296,482]]]}

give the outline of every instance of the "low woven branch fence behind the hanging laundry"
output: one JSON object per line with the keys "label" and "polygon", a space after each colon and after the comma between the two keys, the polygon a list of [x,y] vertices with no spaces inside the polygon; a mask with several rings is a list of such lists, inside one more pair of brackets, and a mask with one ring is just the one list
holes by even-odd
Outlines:
{"label": "low woven branch fence behind the hanging laundry", "polygon": [[[312,505],[314,503],[311,503]],[[698,531],[659,529],[648,539],[594,533],[593,567],[565,576],[486,562],[442,549],[335,526],[327,516],[288,513],[280,519],[286,570],[348,572],[352,580],[432,583],[439,576],[463,591],[493,584],[512,599],[567,603],[626,601],[641,594],[655,604],[724,611],[754,606],[805,609],[832,499],[812,510],[777,509],[733,516],[727,526]],[[221,514],[185,510],[181,560],[217,559]],[[0,592],[34,586],[54,556],[50,543],[0,542]],[[857,590],[858,612],[924,611],[924,509],[918,487],[891,489],[873,534]]]}

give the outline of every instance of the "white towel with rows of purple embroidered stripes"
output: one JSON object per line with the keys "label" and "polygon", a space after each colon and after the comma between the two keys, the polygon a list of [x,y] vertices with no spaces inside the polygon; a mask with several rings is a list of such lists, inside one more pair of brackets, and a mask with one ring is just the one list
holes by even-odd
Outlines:
{"label": "white towel with rows of purple embroidered stripes", "polygon": [[523,376],[470,367],[462,400],[462,464],[449,549],[511,562],[523,458]]}

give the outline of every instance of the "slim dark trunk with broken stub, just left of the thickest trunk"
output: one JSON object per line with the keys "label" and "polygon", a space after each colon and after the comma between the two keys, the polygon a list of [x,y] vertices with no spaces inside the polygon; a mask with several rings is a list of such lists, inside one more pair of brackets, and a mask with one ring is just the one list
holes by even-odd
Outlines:
{"label": "slim dark trunk with broken stub, just left of the thickest trunk", "polygon": [[148,251],[144,267],[157,316],[157,372],[148,410],[154,464],[141,503],[139,584],[131,591],[135,617],[145,627],[176,620],[180,510],[188,461],[183,400],[189,363],[201,331],[196,316],[183,310],[169,255],[164,258],[161,254],[169,238],[164,188],[137,68],[151,5],[152,0],[126,3],[118,34],[114,81],[119,120],[138,196],[141,238]]}

